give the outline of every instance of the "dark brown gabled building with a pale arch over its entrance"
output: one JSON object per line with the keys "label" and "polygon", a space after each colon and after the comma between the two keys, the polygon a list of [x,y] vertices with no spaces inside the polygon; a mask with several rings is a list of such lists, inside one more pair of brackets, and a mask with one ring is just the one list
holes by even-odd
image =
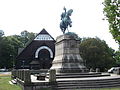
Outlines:
{"label": "dark brown gabled building with a pale arch over its entrance", "polygon": [[43,29],[16,58],[16,69],[49,69],[55,55],[55,40]]}

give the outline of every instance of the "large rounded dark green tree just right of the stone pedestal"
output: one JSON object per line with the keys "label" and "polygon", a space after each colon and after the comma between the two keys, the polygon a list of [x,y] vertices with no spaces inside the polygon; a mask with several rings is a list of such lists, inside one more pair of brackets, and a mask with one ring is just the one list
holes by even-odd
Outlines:
{"label": "large rounded dark green tree just right of the stone pedestal", "polygon": [[115,64],[114,50],[99,38],[84,38],[80,44],[80,55],[87,68],[111,68]]}

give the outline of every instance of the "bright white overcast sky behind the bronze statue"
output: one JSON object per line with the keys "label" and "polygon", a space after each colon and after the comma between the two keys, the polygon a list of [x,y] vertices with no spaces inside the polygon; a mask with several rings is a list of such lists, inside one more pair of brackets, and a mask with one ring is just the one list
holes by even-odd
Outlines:
{"label": "bright white overcast sky behind the bronze statue", "polygon": [[83,37],[99,37],[109,47],[118,50],[118,44],[109,33],[109,24],[103,20],[104,0],[0,0],[0,30],[5,35],[19,35],[20,32],[39,33],[45,28],[56,39],[62,32],[59,28],[60,15],[65,6],[73,9],[72,27]]}

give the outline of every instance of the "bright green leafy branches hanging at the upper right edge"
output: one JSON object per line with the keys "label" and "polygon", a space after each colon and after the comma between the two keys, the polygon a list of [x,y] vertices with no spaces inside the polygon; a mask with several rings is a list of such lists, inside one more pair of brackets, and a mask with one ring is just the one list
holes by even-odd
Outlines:
{"label": "bright green leafy branches hanging at the upper right edge", "polygon": [[103,5],[110,33],[120,46],[120,0],[104,0]]}

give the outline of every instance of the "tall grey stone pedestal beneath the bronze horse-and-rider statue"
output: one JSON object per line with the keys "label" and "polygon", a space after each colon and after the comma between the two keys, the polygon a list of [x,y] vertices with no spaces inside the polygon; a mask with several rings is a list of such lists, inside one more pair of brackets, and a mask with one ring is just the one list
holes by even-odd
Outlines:
{"label": "tall grey stone pedestal beneath the bronze horse-and-rider statue", "polygon": [[85,72],[83,59],[79,54],[80,41],[71,35],[61,35],[56,39],[55,58],[51,69],[56,73]]}

